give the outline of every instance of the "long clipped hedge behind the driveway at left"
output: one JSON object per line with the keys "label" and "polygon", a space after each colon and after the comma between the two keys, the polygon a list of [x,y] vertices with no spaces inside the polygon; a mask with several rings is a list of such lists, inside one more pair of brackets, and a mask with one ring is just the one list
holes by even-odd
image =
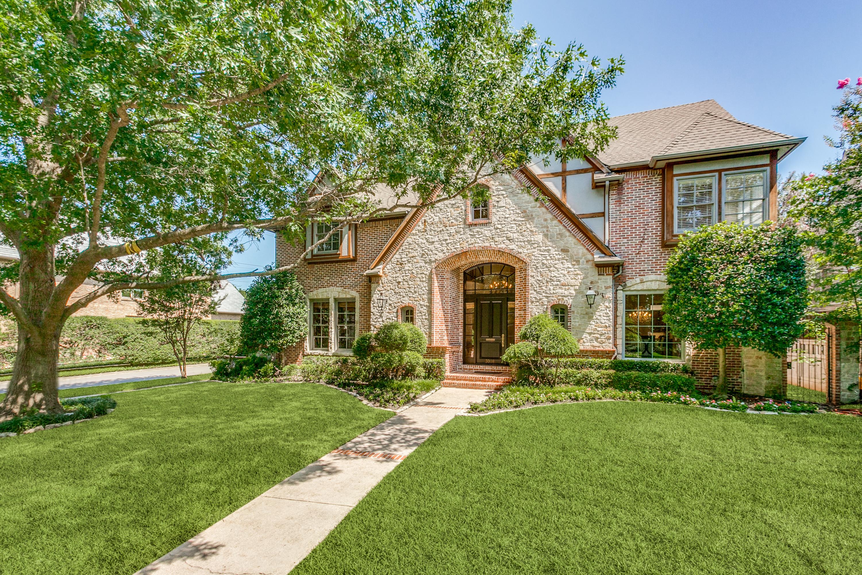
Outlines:
{"label": "long clipped hedge behind the driveway at left", "polygon": [[[9,318],[0,318],[0,366],[14,362],[17,329]],[[240,322],[203,320],[191,330],[189,359],[230,355],[239,345]],[[72,316],[60,337],[61,364],[111,360],[136,366],[174,363],[171,345],[158,329],[134,317]]]}

